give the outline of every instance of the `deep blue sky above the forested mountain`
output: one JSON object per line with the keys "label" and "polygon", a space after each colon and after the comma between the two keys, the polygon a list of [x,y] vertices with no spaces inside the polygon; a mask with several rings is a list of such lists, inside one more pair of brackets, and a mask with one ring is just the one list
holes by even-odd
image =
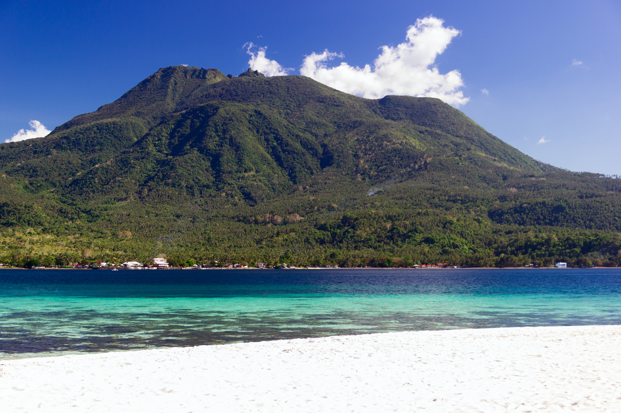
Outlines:
{"label": "deep blue sky above the forested mountain", "polygon": [[[442,53],[430,53],[422,69],[397,65],[382,74],[374,66],[381,48],[407,47],[409,27],[429,16],[443,20],[441,28],[419,37],[418,47]],[[266,60],[290,74],[325,50],[342,55],[320,62],[325,69],[347,63],[360,74],[355,68],[368,64],[375,94],[386,85],[419,93],[401,84],[435,68],[445,82],[438,87],[449,90],[445,100],[520,151],[571,171],[621,175],[620,39],[617,0],[0,0],[0,142],[92,112],[165,66],[237,76],[248,68],[252,42],[255,56],[266,48]],[[421,82],[431,82],[425,76]],[[363,94],[365,84],[350,90]],[[35,120],[40,125],[29,125]]]}

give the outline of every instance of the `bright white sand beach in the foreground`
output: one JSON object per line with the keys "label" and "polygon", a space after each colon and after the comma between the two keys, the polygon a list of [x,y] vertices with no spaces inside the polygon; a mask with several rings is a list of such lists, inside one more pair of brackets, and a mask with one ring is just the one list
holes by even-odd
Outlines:
{"label": "bright white sand beach in the foreground", "polygon": [[621,326],[368,334],[0,362],[2,412],[621,412]]}

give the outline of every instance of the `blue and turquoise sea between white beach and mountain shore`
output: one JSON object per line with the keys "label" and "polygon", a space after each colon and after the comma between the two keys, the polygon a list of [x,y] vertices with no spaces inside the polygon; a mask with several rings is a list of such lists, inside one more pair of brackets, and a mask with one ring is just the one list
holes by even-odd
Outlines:
{"label": "blue and turquoise sea between white beach and mountain shore", "polygon": [[0,270],[0,359],[621,324],[621,269]]}

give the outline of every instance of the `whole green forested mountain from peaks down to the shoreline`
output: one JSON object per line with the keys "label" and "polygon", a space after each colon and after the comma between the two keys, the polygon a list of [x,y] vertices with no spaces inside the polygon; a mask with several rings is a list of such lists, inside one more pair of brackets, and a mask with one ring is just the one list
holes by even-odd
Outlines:
{"label": "whole green forested mountain from peaks down to the shoreline", "polygon": [[22,266],[621,258],[620,180],[537,162],[438,99],[302,76],[160,69],[45,138],[0,144],[0,193],[0,261]]}

